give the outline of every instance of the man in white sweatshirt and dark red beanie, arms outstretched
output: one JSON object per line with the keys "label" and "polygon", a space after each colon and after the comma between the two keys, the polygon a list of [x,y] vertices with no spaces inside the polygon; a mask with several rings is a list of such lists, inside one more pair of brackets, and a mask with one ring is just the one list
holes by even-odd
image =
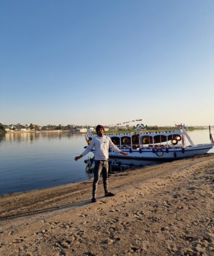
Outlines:
{"label": "man in white sweatshirt and dark red beanie, arms outstretched", "polygon": [[109,170],[109,164],[108,164],[108,158],[109,158],[109,147],[117,151],[118,153],[121,153],[124,156],[127,156],[127,152],[121,151],[118,147],[115,146],[115,144],[112,142],[112,140],[104,135],[104,126],[97,125],[96,132],[97,137],[93,137],[90,145],[86,148],[86,150],[78,157],[75,157],[75,161],[78,159],[84,157],[91,151],[93,147],[95,147],[95,153],[94,153],[94,181],[93,181],[93,190],[92,190],[92,202],[96,202],[96,191],[97,191],[97,185],[99,181],[99,175],[102,171],[102,179],[103,179],[103,187],[105,196],[114,196],[115,194],[112,192],[109,192],[108,189],[108,170]]}

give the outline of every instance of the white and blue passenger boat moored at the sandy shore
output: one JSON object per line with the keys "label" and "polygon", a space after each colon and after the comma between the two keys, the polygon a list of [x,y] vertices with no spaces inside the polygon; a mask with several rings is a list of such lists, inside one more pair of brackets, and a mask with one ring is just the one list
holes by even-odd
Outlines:
{"label": "white and blue passenger boat moored at the sandy shore", "polygon": [[[207,144],[194,144],[184,126],[180,124],[178,127],[179,130],[172,131],[105,134],[120,150],[128,152],[128,156],[123,156],[109,148],[109,157],[154,160],[179,159],[207,153],[214,146],[210,126],[210,143]],[[92,138],[96,136],[96,134],[88,131],[87,144],[89,145]],[[187,140],[189,141],[188,145],[186,144]],[[93,148],[91,151],[95,152],[95,149]]]}

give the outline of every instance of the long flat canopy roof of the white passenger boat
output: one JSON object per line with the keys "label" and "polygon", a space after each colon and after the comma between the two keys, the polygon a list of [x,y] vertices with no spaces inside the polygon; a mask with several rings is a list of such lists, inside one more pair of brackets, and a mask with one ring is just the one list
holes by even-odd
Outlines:
{"label": "long flat canopy roof of the white passenger boat", "polygon": [[[157,132],[132,132],[132,133],[106,133],[104,134],[105,136],[111,137],[124,137],[124,136],[132,136],[132,135],[139,135],[140,137],[143,136],[157,136],[157,135],[164,135],[164,136],[169,136],[169,135],[182,135],[181,130],[172,130],[172,131],[157,131]],[[96,134],[87,134],[86,137],[96,137]]]}

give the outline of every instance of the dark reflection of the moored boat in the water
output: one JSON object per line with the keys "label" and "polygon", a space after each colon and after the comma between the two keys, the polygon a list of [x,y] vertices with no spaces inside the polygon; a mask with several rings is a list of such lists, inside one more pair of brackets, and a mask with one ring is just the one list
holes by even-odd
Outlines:
{"label": "dark reflection of the moored boat in the water", "polygon": [[[130,159],[130,158],[109,158],[109,173],[115,171],[124,171],[127,169],[134,169],[136,167],[143,167],[146,165],[154,165],[158,163],[163,163],[163,161],[157,160],[140,160],[140,159]],[[93,177],[94,173],[94,158],[86,159],[86,175],[89,178]]]}

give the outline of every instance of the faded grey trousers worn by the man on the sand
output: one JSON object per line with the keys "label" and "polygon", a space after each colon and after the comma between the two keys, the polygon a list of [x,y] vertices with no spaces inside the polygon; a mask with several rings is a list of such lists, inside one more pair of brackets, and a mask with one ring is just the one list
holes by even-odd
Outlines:
{"label": "faded grey trousers worn by the man on the sand", "polygon": [[102,171],[102,181],[103,181],[103,187],[104,192],[108,193],[108,170],[109,170],[109,163],[108,160],[94,160],[94,181],[93,181],[93,190],[92,190],[92,196],[96,197],[97,192],[97,185],[99,181],[99,176]]}

